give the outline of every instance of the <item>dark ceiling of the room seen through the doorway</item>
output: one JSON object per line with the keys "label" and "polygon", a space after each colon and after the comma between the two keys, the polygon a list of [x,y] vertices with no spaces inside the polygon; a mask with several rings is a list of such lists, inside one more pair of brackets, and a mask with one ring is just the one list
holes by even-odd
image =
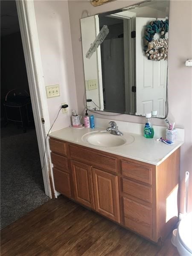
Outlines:
{"label": "dark ceiling of the room seen through the doorway", "polygon": [[0,0],[0,35],[11,35],[20,31],[15,1]]}

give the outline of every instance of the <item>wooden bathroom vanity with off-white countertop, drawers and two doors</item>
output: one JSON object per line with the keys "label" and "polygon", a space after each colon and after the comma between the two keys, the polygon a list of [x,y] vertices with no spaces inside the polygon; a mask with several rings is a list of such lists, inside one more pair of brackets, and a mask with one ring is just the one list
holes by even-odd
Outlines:
{"label": "wooden bathroom vanity with off-white countertop, drawers and two doors", "polygon": [[124,133],[125,141],[134,140],[114,147],[87,143],[87,134],[102,132],[64,128],[50,134],[55,189],[151,241],[163,241],[177,222],[182,142],[166,145]]}

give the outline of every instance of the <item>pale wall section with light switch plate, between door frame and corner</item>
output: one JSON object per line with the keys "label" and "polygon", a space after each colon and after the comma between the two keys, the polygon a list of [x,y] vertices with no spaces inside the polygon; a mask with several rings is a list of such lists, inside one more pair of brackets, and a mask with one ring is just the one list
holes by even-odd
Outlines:
{"label": "pale wall section with light switch plate, between door frame and corner", "polygon": [[47,99],[49,119],[55,120],[61,103],[67,102],[68,113],[60,111],[52,131],[71,124],[71,110],[77,109],[70,23],[67,1],[34,1],[45,86],[59,84],[60,96]]}

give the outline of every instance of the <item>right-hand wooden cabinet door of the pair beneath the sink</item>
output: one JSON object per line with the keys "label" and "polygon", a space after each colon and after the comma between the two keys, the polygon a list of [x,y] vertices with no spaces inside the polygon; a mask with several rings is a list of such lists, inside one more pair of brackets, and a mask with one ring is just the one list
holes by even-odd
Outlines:
{"label": "right-hand wooden cabinet door of the pair beneath the sink", "polygon": [[92,168],[96,211],[120,222],[118,177]]}

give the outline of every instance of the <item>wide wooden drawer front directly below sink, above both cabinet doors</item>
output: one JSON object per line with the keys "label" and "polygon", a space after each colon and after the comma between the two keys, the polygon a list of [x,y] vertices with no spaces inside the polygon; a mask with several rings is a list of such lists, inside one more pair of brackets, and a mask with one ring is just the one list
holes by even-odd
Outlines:
{"label": "wide wooden drawer front directly below sink, above both cabinet doors", "polygon": [[70,155],[72,159],[84,161],[90,166],[99,167],[111,172],[117,171],[117,159],[115,157],[108,157],[103,154],[96,153],[91,149],[84,149],[74,145],[70,145]]}

